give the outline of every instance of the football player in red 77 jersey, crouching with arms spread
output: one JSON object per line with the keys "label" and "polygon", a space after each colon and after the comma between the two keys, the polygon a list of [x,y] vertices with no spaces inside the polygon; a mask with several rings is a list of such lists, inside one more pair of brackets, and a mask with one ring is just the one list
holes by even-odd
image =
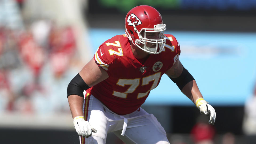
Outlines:
{"label": "football player in red 77 jersey, crouching with arms spread", "polygon": [[[176,38],[164,34],[160,13],[136,6],[125,17],[125,35],[108,39],[71,80],[67,95],[80,143],[106,143],[114,132],[125,143],[169,143],[157,119],[140,106],[163,74],[195,103],[201,113],[216,113],[202,97],[192,75],[179,61]],[[83,94],[83,91],[86,93]]]}

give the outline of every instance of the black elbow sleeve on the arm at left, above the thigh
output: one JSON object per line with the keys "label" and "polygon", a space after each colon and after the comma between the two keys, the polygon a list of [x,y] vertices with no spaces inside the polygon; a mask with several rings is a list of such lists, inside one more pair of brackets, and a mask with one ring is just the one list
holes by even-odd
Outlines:
{"label": "black elbow sleeve on the arm at left, above the thigh", "polygon": [[83,81],[79,73],[70,81],[67,86],[67,97],[69,95],[79,95],[83,97],[83,91],[89,89],[90,87]]}

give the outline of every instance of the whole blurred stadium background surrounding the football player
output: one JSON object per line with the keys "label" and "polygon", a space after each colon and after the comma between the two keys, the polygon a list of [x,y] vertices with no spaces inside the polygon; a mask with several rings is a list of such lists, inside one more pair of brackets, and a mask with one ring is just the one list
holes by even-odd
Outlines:
{"label": "whole blurred stadium background surrounding the football player", "polygon": [[[142,108],[173,144],[256,143],[256,0],[0,0],[1,143],[79,143],[70,80],[137,5],[155,7],[215,108],[207,124],[167,76]],[[108,134],[107,144],[122,143]]]}

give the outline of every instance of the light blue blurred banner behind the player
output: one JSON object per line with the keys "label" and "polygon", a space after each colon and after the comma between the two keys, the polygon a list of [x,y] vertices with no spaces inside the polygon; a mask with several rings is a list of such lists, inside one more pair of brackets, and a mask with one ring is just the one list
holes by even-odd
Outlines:
{"label": "light blue blurred banner behind the player", "polygon": [[[243,105],[256,81],[256,33],[166,31],[181,46],[180,61],[196,79],[206,101],[212,105]],[[124,30],[90,29],[93,51]],[[146,104],[193,105],[163,75]]]}

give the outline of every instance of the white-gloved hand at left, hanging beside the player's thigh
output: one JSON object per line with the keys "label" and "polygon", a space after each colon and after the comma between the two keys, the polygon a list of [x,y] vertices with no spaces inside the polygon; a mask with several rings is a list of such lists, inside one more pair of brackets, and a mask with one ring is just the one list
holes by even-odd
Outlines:
{"label": "white-gloved hand at left, hanging beside the player's thigh", "polygon": [[77,134],[82,137],[90,137],[91,132],[96,133],[97,130],[92,129],[88,121],[85,121],[83,116],[78,116],[73,119],[74,128],[77,131]]}

